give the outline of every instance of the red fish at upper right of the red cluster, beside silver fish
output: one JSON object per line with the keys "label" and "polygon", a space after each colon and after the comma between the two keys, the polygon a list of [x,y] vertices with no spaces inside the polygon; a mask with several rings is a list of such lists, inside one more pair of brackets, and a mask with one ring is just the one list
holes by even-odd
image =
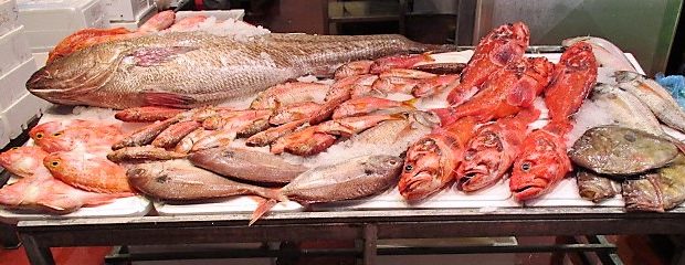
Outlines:
{"label": "red fish at upper right of the red cluster, beside silver fish", "polygon": [[555,67],[555,78],[545,91],[549,117],[566,123],[580,108],[597,83],[597,61],[592,46],[577,42],[568,47]]}

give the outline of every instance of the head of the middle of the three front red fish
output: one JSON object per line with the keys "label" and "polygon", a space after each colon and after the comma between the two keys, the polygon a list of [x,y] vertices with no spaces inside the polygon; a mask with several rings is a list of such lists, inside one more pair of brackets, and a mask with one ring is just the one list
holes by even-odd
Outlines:
{"label": "head of the middle of the three front red fish", "polygon": [[505,158],[505,144],[493,130],[481,130],[464,151],[464,160],[457,170],[456,187],[476,191],[495,183],[503,174],[500,165]]}

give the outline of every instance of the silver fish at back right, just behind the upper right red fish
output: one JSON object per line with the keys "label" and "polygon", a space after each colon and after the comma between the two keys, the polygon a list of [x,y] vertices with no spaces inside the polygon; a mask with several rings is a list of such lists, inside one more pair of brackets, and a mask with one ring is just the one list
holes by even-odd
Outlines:
{"label": "silver fish at back right, just behind the upper right red fish", "polygon": [[576,36],[566,39],[561,45],[568,47],[577,42],[586,42],[592,46],[592,54],[601,66],[613,68],[614,71],[637,72],[628,61],[625,54],[613,43],[597,36]]}

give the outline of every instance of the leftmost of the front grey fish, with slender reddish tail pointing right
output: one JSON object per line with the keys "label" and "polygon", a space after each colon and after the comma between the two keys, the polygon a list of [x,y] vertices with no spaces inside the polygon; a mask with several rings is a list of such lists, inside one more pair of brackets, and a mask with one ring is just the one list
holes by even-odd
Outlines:
{"label": "leftmost of the front grey fish, with slender reddish tail pointing right", "polygon": [[235,182],[182,161],[135,165],[126,174],[136,190],[159,200],[198,201],[233,195],[284,200],[276,190]]}

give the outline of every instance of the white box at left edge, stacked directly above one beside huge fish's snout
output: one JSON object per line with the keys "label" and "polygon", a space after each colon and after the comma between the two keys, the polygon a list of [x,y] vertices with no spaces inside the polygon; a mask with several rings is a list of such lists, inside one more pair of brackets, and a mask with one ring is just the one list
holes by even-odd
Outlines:
{"label": "white box at left edge, stacked directly above one beside huge fish's snout", "polygon": [[4,35],[0,35],[0,76],[12,71],[17,65],[31,59],[23,25],[15,28]]}

